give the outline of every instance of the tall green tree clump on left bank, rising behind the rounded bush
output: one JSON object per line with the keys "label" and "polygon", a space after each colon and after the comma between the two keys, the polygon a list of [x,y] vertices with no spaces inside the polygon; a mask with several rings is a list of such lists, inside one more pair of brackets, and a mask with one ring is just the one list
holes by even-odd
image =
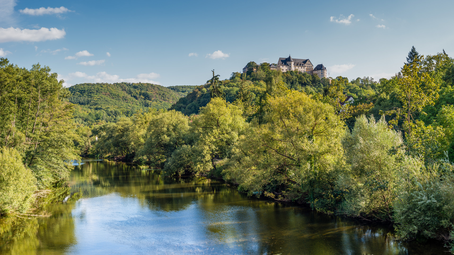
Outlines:
{"label": "tall green tree clump on left bank, rising behind the rounded bush", "polygon": [[0,140],[14,147],[23,163],[34,173],[38,188],[68,176],[72,160],[79,159],[74,148],[77,137],[72,121],[70,93],[63,80],[39,64],[20,69],[0,60]]}

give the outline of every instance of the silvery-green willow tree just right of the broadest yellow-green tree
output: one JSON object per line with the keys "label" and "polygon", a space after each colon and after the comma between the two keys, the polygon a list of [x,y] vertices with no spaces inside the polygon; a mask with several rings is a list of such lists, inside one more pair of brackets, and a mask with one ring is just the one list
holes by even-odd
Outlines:
{"label": "silvery-green willow tree just right of the broadest yellow-green tree", "polygon": [[402,143],[400,133],[388,129],[385,118],[375,122],[373,116],[357,118],[355,127],[345,137],[346,162],[351,171],[340,185],[349,186],[341,211],[350,216],[372,216],[391,220],[393,203],[399,186],[396,155],[389,150]]}

